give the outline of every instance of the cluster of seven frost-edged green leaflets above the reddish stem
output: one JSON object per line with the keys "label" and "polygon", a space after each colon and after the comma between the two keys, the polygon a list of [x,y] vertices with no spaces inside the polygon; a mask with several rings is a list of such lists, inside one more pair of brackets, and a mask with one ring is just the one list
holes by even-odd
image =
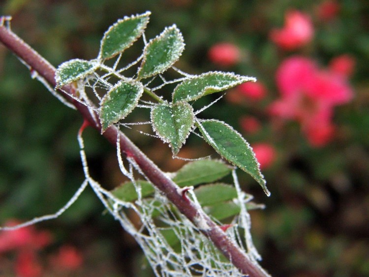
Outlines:
{"label": "cluster of seven frost-edged green leaflets above the reddish stem", "polygon": [[[269,195],[259,163],[246,140],[224,122],[196,118],[196,112],[191,105],[201,97],[222,92],[247,81],[255,81],[254,78],[229,72],[184,74],[184,78],[177,80],[178,85],[173,90],[171,102],[157,96],[149,87],[151,81],[147,81],[148,78],[159,76],[164,80],[160,74],[171,68],[184,51],[183,35],[175,25],[165,28],[149,42],[144,38],[143,55],[135,62],[141,62],[135,76],[123,76],[124,70],[116,69],[118,62],[113,67],[104,64],[115,56],[120,59],[122,53],[143,36],[149,17],[150,12],[146,12],[118,20],[104,33],[96,59],[91,61],[75,59],[62,63],[56,73],[57,88],[80,80],[88,82],[91,78],[101,81],[99,88],[106,88],[107,91],[101,98],[98,96],[102,132],[130,114],[138,106],[142,94],[147,92],[156,100],[156,103],[150,103],[153,130],[163,142],[169,144],[174,156],[179,153],[190,132],[197,127],[205,141],[218,154],[251,175]],[[105,75],[108,77],[105,79],[101,77],[100,71],[108,71],[109,74]],[[114,80],[111,76],[118,77],[119,81],[109,83]],[[203,177],[198,178],[201,180]],[[184,182],[176,178],[174,181],[179,185]],[[184,184],[192,183],[187,180]]]}

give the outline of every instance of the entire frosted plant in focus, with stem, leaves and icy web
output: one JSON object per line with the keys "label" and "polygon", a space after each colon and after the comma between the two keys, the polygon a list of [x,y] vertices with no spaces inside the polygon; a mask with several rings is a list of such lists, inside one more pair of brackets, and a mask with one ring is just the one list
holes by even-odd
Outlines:
{"label": "entire frosted plant in focus, with stem, leaves and icy web", "polygon": [[[251,241],[247,213],[261,205],[250,202],[252,197],[241,190],[236,175],[236,168],[247,172],[269,195],[259,164],[252,148],[231,126],[198,117],[212,103],[197,111],[192,106],[201,97],[255,79],[217,71],[184,73],[174,67],[184,51],[181,31],[173,25],[147,41],[144,31],[149,17],[150,12],[124,17],[105,32],[96,59],[74,59],[57,69],[10,31],[7,17],[1,18],[1,42],[21,58],[33,77],[78,109],[85,120],[78,133],[86,178],[80,189],[56,214],[36,217],[18,227],[59,216],[91,185],[105,208],[142,247],[156,275],[265,276],[256,262],[260,256]],[[142,55],[126,62],[124,51],[140,37]],[[136,73],[128,76],[132,68]],[[165,74],[178,77],[169,80]],[[159,96],[161,90],[168,91],[169,84],[176,85],[171,97]],[[150,120],[129,122],[127,116],[134,109],[150,109]],[[154,136],[169,144],[173,157],[178,157],[187,137],[194,133],[232,166],[200,158],[165,174],[120,131],[132,124],[151,124]],[[88,125],[116,145],[120,169],[130,180],[113,191],[89,174],[82,139]],[[229,174],[233,184],[222,183]],[[139,216],[141,226],[131,223],[129,212]],[[232,218],[231,223],[223,224],[225,218]]]}

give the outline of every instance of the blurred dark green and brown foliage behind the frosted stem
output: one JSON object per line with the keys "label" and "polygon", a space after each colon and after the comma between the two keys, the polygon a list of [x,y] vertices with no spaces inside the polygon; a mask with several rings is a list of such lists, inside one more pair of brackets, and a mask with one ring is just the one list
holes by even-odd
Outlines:
{"label": "blurred dark green and brown foliage behind the frosted stem", "polygon": [[[267,207],[251,212],[262,266],[273,276],[369,276],[369,2],[337,1],[339,8],[329,20],[319,16],[323,2],[4,0],[0,14],[11,15],[12,30],[58,66],[73,58],[95,58],[111,24],[124,15],[150,10],[147,38],[173,23],[184,34],[186,48],[177,67],[189,73],[224,70],[257,77],[267,91],[261,100],[226,96],[201,117],[223,120],[243,133],[251,145],[264,143],[274,150],[273,162],[263,170],[271,197],[240,173],[245,190]],[[285,51],[270,39],[270,32],[282,28],[286,11],[291,9],[310,16],[314,36],[303,47]],[[212,46],[224,42],[241,53],[232,64],[216,63],[208,55]],[[131,55],[140,50],[136,47]],[[335,108],[335,137],[323,147],[312,147],[298,123],[288,121],[280,127],[266,112],[279,97],[276,71],[292,55],[326,67],[342,54],[355,61],[349,79],[354,97]],[[209,95],[195,107],[214,97]],[[10,218],[27,220],[57,211],[84,179],[76,140],[81,117],[32,80],[24,65],[2,46],[0,111],[1,225]],[[136,113],[130,120],[146,121],[145,116]],[[240,119],[245,116],[261,123],[258,131],[243,129]],[[183,165],[182,160],[172,160],[170,149],[161,141],[134,130],[126,133],[164,171]],[[123,179],[114,148],[94,130],[86,129],[84,137],[93,177],[107,188],[119,185]],[[190,136],[180,152],[187,158],[208,154],[215,156],[196,136]],[[141,268],[138,246],[111,216],[103,214],[90,190],[58,219],[36,228],[53,235],[53,244],[38,253],[45,276],[147,274]],[[66,244],[78,249],[83,263],[73,272],[56,273],[45,261]],[[16,258],[0,254],[1,275],[12,272],[12,261]]]}

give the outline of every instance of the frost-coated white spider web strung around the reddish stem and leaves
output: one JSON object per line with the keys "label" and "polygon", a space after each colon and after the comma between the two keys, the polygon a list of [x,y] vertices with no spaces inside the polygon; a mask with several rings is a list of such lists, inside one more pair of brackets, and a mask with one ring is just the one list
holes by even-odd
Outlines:
{"label": "frost-coated white spider web strung around the reddish stem and leaves", "polygon": [[[144,43],[147,45],[145,37]],[[96,113],[99,114],[100,109],[96,108],[95,105],[100,105],[104,92],[111,90],[117,80],[131,80],[131,78],[123,76],[123,72],[140,62],[143,56],[140,56],[134,62],[120,68],[119,65],[121,63],[121,58],[122,54],[119,54],[115,62],[110,66],[100,63],[99,72],[94,72],[93,74],[84,77],[83,80],[78,81],[76,84],[77,93],[74,95],[69,94],[70,97],[83,103],[90,109],[96,124],[98,124]],[[184,73],[175,67],[172,68],[180,75],[179,78],[168,81],[162,75],[158,74],[144,84],[145,92],[149,95],[151,94],[154,99],[155,97],[162,99],[153,92],[157,92],[167,85],[175,84],[192,77],[192,75]],[[33,73],[33,77],[46,83],[45,80],[36,73]],[[161,83],[157,85],[157,81]],[[155,85],[151,85],[154,83]],[[47,88],[53,93],[58,93],[50,88],[50,86],[47,86]],[[154,105],[155,102],[140,100],[137,107],[151,109]],[[201,111],[203,111],[203,109],[198,112]],[[116,125],[118,127],[128,127],[130,124],[150,123],[151,122],[116,123]],[[29,226],[40,221],[57,218],[65,212],[65,210],[67,210],[78,199],[84,189],[90,185],[94,193],[103,203],[105,209],[120,222],[124,230],[132,235],[141,246],[156,276],[242,275],[231,261],[228,261],[213,245],[213,243],[201,233],[199,227],[195,226],[190,220],[182,215],[174,205],[172,205],[167,198],[155,188],[155,186],[154,193],[149,197],[143,196],[142,186],[138,180],[149,180],[133,159],[127,157],[123,161],[120,150],[119,135],[117,136],[117,158],[120,169],[123,175],[125,175],[134,185],[137,198],[134,201],[123,201],[114,193],[104,189],[102,185],[94,181],[89,173],[88,161],[84,151],[82,130],[83,129],[81,128],[81,131],[78,133],[78,142],[85,180],[73,197],[55,214],[36,217],[23,224],[13,227],[2,227],[0,230],[12,230]],[[173,176],[168,174],[168,178],[170,177],[173,178]],[[258,266],[257,260],[260,260],[260,255],[251,240],[250,216],[246,209],[246,205],[250,202],[252,197],[241,190],[235,169],[232,171],[232,177],[233,185],[237,191],[237,197],[234,198],[233,201],[240,207],[240,213],[230,222],[228,225],[229,228],[224,228],[224,232],[226,232],[234,244],[245,251],[250,260]],[[193,189],[191,187],[188,187],[187,189],[189,198],[194,201],[199,213],[201,214],[200,211],[206,213],[198,203]],[[137,215],[140,219],[139,224],[132,222],[132,213]],[[216,223],[222,225],[221,222],[217,221],[215,218],[213,219]]]}

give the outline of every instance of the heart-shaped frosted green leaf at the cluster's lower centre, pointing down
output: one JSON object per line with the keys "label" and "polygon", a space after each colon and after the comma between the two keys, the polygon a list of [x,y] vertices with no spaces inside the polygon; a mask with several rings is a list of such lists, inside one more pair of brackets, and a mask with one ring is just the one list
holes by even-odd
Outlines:
{"label": "heart-shaped frosted green leaf at the cluster's lower centre, pointing down", "polygon": [[193,108],[186,102],[158,104],[151,111],[156,134],[178,154],[194,123]]}

